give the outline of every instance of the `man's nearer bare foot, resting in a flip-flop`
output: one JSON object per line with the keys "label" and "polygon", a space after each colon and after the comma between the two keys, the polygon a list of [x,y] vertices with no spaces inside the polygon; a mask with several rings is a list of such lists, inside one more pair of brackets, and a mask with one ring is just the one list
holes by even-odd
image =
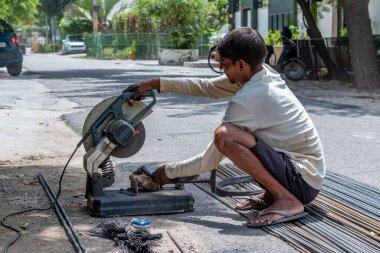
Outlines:
{"label": "man's nearer bare foot, resting in a flip-flop", "polygon": [[304,211],[304,206],[297,199],[278,199],[265,209],[266,214],[255,219],[247,221],[247,224],[271,224],[272,222],[282,219],[285,216],[278,213],[270,213],[270,211],[281,210],[288,212],[290,215],[300,214]]}

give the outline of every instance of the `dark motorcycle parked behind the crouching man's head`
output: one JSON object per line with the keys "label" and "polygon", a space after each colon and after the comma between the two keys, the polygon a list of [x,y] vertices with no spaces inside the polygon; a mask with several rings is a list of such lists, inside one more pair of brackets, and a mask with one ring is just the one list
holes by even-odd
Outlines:
{"label": "dark motorcycle parked behind the crouching man's head", "polygon": [[[265,63],[270,65],[276,71],[284,73],[287,78],[293,81],[303,79],[306,73],[306,66],[302,60],[297,56],[297,47],[291,40],[291,33],[286,32],[286,28],[281,34],[282,52],[276,61],[276,55],[272,45],[266,45],[267,56]],[[223,71],[219,69],[219,57],[216,52],[216,45],[213,46],[208,54],[208,65],[216,73],[222,74]]]}

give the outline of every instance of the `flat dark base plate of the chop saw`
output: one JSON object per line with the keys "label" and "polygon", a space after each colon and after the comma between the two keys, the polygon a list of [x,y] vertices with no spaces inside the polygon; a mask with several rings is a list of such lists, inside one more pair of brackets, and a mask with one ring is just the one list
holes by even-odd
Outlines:
{"label": "flat dark base plate of the chop saw", "polygon": [[185,190],[165,189],[156,192],[107,190],[102,196],[88,195],[87,208],[94,217],[187,213],[194,211],[194,199]]}

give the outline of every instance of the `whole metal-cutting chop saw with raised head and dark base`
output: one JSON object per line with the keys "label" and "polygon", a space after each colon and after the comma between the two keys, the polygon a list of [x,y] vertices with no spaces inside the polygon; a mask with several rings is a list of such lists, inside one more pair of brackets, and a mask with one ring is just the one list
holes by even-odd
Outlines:
{"label": "whole metal-cutting chop saw with raised head and dark base", "polygon": [[145,141],[142,120],[152,112],[155,93],[144,97],[149,104],[136,101],[128,104],[132,92],[124,92],[97,104],[88,114],[83,126],[86,154],[83,166],[87,172],[86,199],[89,214],[97,217],[160,214],[193,211],[193,197],[185,190],[164,189],[157,192],[130,189],[105,190],[115,182],[111,157],[128,158],[135,155]]}

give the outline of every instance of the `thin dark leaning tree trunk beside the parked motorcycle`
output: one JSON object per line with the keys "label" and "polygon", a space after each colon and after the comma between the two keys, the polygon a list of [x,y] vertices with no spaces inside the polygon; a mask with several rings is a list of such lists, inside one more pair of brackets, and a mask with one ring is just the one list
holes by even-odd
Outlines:
{"label": "thin dark leaning tree trunk beside the parked motorcycle", "polygon": [[335,79],[338,77],[338,70],[335,65],[332,63],[329,51],[326,48],[325,42],[322,39],[322,34],[318,29],[317,23],[315,22],[315,18],[311,14],[310,6],[307,3],[307,0],[297,0],[298,5],[301,7],[302,14],[307,22],[307,35],[311,39],[316,39],[312,41],[312,44],[315,46],[319,56],[322,58],[325,66],[329,72],[329,78]]}

